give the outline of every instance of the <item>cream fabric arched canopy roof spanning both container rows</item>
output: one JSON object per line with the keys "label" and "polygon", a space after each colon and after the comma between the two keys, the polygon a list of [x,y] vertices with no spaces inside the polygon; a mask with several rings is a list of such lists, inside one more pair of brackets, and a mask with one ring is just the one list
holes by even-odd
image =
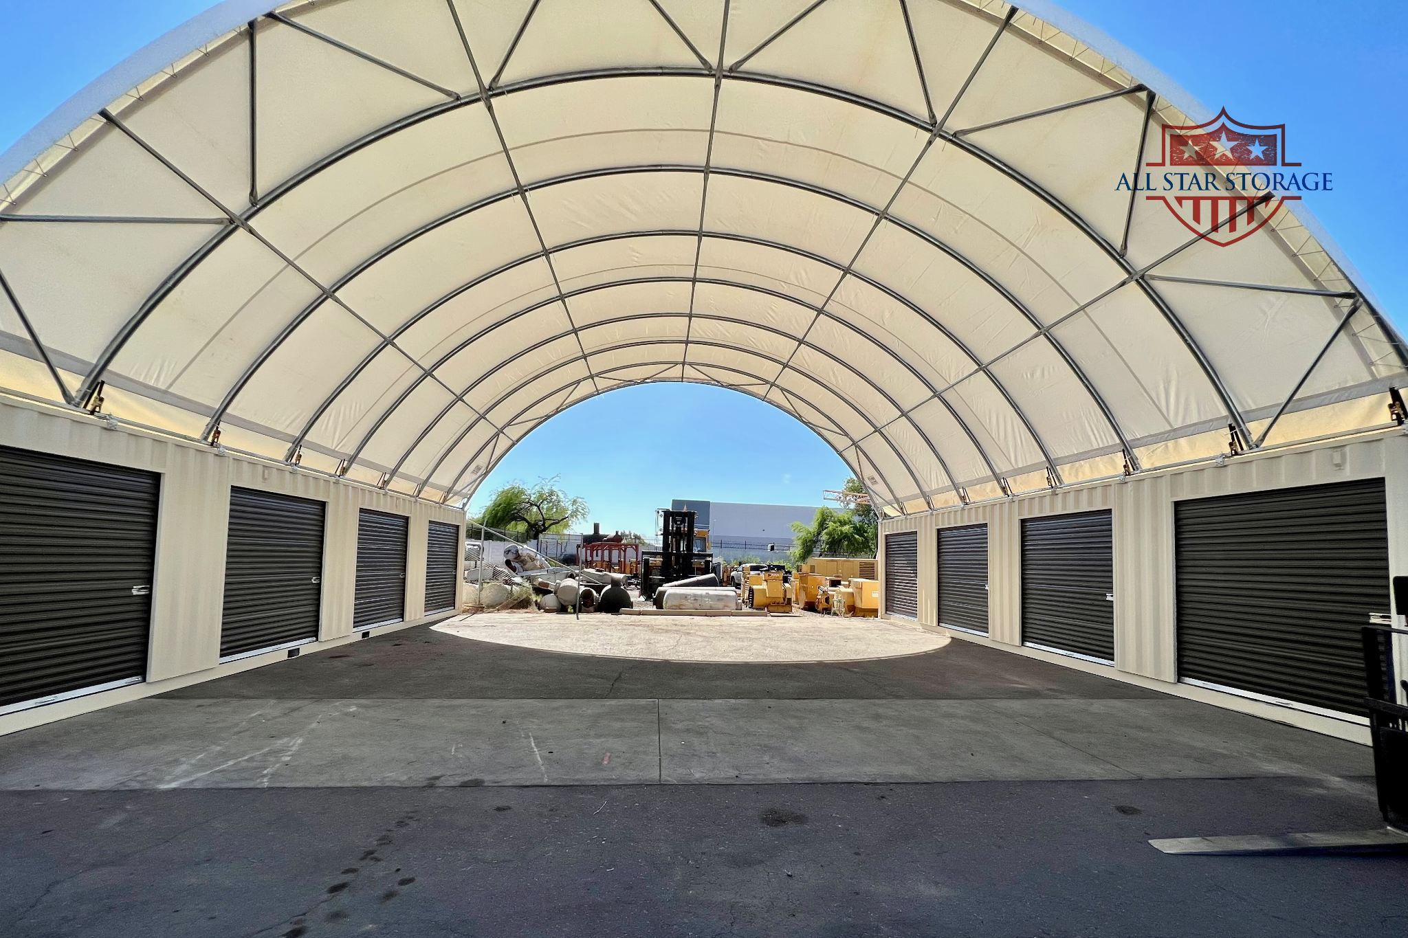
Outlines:
{"label": "cream fabric arched canopy roof spanning both container rows", "polygon": [[1025,6],[231,0],[0,159],[0,384],[441,501],[648,381],[890,513],[1381,423],[1304,214],[1117,188],[1202,114]]}

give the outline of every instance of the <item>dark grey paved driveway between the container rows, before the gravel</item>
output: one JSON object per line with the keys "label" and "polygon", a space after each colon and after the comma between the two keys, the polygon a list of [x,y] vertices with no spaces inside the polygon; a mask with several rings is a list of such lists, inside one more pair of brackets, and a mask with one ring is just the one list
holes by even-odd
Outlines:
{"label": "dark grey paved driveway between the container rows, before the gravel", "polygon": [[417,627],[0,738],[6,935],[1398,935],[1366,748],[1025,657]]}

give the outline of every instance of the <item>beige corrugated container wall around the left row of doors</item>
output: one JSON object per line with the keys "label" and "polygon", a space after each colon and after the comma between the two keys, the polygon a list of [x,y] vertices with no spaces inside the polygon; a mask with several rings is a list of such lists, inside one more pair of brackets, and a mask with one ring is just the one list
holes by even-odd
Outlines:
{"label": "beige corrugated container wall around the left row of doors", "polygon": [[[376,491],[327,475],[218,456],[207,446],[130,429],[107,429],[99,418],[61,412],[24,401],[0,402],[0,446],[127,465],[161,474],[156,575],[146,681],[0,716],[0,733],[63,719],[121,700],[161,693],[287,657],[279,651],[220,664],[220,626],[231,487],[263,489],[327,503],[318,643],[352,638],[356,582],[358,510],[406,515],[410,541],[406,568],[406,619],[427,622],[425,553],[431,520],[463,525],[451,506]],[[462,551],[460,551],[462,553]],[[456,571],[456,608],[463,588]],[[82,575],[82,571],[75,571]],[[313,645],[313,648],[320,647]]]}

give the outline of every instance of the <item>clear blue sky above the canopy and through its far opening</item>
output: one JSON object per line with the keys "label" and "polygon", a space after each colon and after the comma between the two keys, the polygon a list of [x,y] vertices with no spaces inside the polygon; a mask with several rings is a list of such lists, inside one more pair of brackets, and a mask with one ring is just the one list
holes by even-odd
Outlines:
{"label": "clear blue sky above the canopy and through its far opening", "polygon": [[[0,150],[63,100],[203,0],[0,0]],[[1383,311],[1408,326],[1402,219],[1408,187],[1408,3],[1402,0],[1066,0],[1217,111],[1287,124],[1287,150],[1335,176],[1307,193]],[[677,420],[676,429],[656,429]],[[701,429],[703,428],[703,429]],[[569,447],[563,440],[587,440]],[[560,413],[493,473],[498,482],[560,474],[603,527],[649,529],[670,498],[817,503],[839,488],[839,458],[791,418],[694,385],[617,391]],[[476,499],[479,501],[479,499]]]}

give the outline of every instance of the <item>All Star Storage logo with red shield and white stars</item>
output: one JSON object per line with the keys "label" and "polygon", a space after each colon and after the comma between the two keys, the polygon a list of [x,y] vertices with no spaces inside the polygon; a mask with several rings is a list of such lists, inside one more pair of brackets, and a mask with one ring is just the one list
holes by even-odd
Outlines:
{"label": "All Star Storage logo with red shield and white stars", "polygon": [[[1163,173],[1121,174],[1115,190],[1162,193],[1163,203],[1193,233],[1215,245],[1235,245],[1266,225],[1281,205],[1298,201],[1294,191],[1331,191],[1331,173],[1276,172],[1300,167],[1286,162],[1286,125],[1255,125],[1233,120],[1226,108],[1193,127],[1164,124],[1162,153],[1146,167]],[[1266,167],[1266,169],[1262,169]]]}

